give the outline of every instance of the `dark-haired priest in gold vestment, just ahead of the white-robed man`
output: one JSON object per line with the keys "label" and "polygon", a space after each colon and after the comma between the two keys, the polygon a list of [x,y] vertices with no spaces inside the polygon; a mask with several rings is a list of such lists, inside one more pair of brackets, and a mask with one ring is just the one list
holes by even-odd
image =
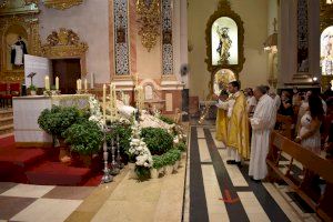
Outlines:
{"label": "dark-haired priest in gold vestment, just ahead of the white-robed man", "polygon": [[230,97],[216,104],[219,108],[216,139],[225,141],[230,158],[228,164],[241,164],[242,159],[249,159],[250,155],[246,99],[240,87],[239,81],[231,81],[228,85]]}

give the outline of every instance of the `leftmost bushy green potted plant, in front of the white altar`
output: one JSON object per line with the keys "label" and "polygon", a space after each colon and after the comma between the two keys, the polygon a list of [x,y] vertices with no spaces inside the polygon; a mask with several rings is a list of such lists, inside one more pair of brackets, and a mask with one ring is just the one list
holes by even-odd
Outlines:
{"label": "leftmost bushy green potted plant, in front of the white altar", "polygon": [[74,107],[59,107],[44,109],[38,118],[39,127],[53,138],[53,147],[59,148],[59,160],[70,162],[69,149],[64,143],[62,132],[73,123],[82,120],[81,112]]}

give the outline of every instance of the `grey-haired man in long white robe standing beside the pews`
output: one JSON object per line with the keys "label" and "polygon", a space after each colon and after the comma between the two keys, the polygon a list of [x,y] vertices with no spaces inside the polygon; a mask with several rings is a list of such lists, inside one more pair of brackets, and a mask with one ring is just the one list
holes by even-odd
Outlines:
{"label": "grey-haired man in long white robe standing beside the pews", "polygon": [[268,174],[266,157],[270,134],[276,120],[276,109],[274,100],[268,94],[264,85],[254,89],[254,97],[259,102],[253,118],[250,119],[252,140],[249,175],[253,176],[253,180],[259,181]]}

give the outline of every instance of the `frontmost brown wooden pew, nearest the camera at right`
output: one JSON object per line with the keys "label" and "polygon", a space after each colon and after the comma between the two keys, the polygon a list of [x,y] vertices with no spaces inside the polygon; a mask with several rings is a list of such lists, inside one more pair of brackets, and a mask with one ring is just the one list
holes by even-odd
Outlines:
{"label": "frontmost brown wooden pew, nearest the camera at right", "polygon": [[[286,173],[279,169],[282,152],[292,157]],[[292,162],[299,161],[304,169],[304,179],[299,182],[291,175]],[[294,190],[324,221],[333,221],[333,161],[323,159],[278,132],[272,132],[270,152],[266,159],[268,179],[273,182],[283,180]],[[313,185],[321,176],[326,181],[323,193]]]}

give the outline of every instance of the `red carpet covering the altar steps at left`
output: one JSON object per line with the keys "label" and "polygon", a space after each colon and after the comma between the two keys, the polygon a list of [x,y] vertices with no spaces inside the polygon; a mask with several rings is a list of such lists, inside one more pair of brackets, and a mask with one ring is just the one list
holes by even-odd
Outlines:
{"label": "red carpet covering the altar steps at left", "polygon": [[13,137],[0,139],[0,181],[40,185],[100,184],[100,172],[93,173],[89,168],[68,167],[54,162],[57,159],[58,153],[51,148],[17,148]]}

